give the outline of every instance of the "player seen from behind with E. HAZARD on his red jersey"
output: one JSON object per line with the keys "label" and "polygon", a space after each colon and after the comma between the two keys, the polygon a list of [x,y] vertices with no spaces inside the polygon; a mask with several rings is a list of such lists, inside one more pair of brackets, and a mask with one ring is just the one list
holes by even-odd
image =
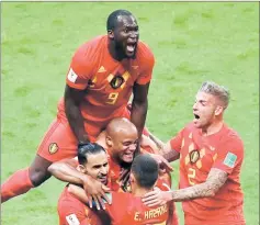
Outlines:
{"label": "player seen from behind with E. HAZARD on his red jersey", "polygon": [[[109,214],[110,221],[108,220],[104,224],[171,224],[172,212],[169,203],[157,207],[148,207],[142,202],[142,196],[155,189],[155,185],[157,189],[169,191],[170,188],[166,183],[161,180],[157,180],[158,172],[158,164],[150,155],[142,154],[135,157],[131,169],[132,193],[112,192],[109,194],[112,204],[105,204],[105,212]],[[71,199],[78,196],[81,201],[88,202],[88,198],[82,188],[71,184],[69,188],[69,193],[72,194],[70,195]],[[69,211],[69,209],[75,209],[75,206],[71,204],[63,204],[59,205],[59,209],[60,214],[61,211]],[[100,214],[100,212],[92,213],[97,215]],[[101,211],[101,217],[103,217],[104,212]]]}

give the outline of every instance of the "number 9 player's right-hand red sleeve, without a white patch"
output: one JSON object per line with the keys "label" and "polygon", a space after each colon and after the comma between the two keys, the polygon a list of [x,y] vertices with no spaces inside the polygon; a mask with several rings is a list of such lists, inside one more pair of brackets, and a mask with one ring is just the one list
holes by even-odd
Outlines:
{"label": "number 9 player's right-hand red sleeve, without a white patch", "polygon": [[142,65],[140,75],[137,78],[136,82],[138,85],[146,85],[151,79],[152,69],[155,66],[155,56],[151,53],[150,48],[143,42],[139,42],[139,64]]}

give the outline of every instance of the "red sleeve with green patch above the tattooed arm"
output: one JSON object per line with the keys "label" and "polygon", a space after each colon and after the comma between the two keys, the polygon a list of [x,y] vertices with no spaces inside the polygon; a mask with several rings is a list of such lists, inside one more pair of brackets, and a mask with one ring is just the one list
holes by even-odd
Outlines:
{"label": "red sleeve with green patch above the tattooed arm", "polygon": [[219,146],[213,168],[221,169],[230,175],[244,160],[244,144],[238,137],[227,139]]}

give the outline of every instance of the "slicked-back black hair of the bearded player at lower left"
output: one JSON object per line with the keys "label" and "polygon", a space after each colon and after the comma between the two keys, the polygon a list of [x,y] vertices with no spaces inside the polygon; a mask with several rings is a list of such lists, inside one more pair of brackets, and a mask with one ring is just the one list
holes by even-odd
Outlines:
{"label": "slicked-back black hair of the bearded player at lower left", "polygon": [[101,151],[105,151],[105,149],[97,144],[97,143],[90,143],[86,145],[81,145],[78,148],[78,160],[80,165],[86,165],[88,162],[88,155],[90,154],[99,154]]}

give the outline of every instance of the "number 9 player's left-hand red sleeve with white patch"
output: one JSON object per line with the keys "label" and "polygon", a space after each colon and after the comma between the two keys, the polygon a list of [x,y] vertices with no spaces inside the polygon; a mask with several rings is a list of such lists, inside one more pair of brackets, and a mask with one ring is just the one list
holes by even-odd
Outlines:
{"label": "number 9 player's left-hand red sleeve with white patch", "polygon": [[67,74],[66,83],[75,89],[87,88],[93,70],[93,47],[90,43],[80,46],[75,53]]}

